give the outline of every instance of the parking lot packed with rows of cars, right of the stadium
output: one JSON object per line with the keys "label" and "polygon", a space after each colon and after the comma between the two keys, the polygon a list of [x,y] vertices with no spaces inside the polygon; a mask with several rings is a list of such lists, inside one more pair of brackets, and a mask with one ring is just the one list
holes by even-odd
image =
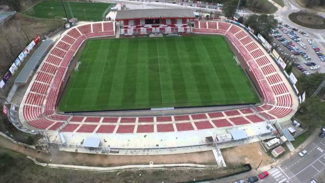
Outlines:
{"label": "parking lot packed with rows of cars, right of the stadium", "polygon": [[[311,40],[308,35],[304,36],[298,29],[293,31],[293,27],[284,25],[279,25],[272,33],[275,38],[274,46],[278,47],[277,52],[281,53],[282,58],[287,55],[289,59],[294,59],[296,67],[307,75],[325,72],[325,62],[322,62],[316,53],[317,42]],[[318,54],[322,55],[322,50],[319,50]],[[325,61],[325,58],[323,60]]]}

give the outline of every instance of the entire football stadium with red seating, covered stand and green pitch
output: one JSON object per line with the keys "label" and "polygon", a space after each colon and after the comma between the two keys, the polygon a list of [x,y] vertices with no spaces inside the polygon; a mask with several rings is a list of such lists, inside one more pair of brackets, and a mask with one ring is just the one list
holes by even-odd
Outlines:
{"label": "entire football stadium with red seating, covered stand and green pitch", "polygon": [[297,108],[294,89],[243,27],[148,9],[64,32],[19,119],[61,150],[152,155],[213,149],[222,134],[272,138]]}

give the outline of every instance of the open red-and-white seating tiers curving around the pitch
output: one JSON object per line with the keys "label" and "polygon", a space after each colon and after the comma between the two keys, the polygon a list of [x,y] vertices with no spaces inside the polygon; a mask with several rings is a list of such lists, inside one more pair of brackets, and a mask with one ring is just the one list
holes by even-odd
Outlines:
{"label": "open red-and-white seating tiers curving around the pitch", "polygon": [[[129,26],[134,26],[134,24],[124,24],[127,17],[121,20],[121,17],[118,18],[117,16],[116,19],[123,24],[123,27],[127,26],[124,28],[127,29],[126,32],[131,33],[128,29],[130,28]],[[182,24],[189,25],[190,22],[188,21],[190,19],[191,17],[188,17],[186,23],[185,20],[184,22],[182,20]],[[138,25],[138,23],[136,24]],[[270,121],[285,121],[293,116],[298,107],[297,96],[272,58],[249,33],[229,22],[200,21],[195,19],[193,24],[194,27],[192,27],[191,32],[194,34],[222,35],[229,39],[232,46],[242,55],[251,76],[256,81],[256,87],[261,90],[264,101],[261,105],[232,110],[168,116],[150,115],[149,111],[147,116],[127,117],[57,113],[56,103],[59,97],[59,90],[62,89],[62,82],[69,64],[81,44],[89,38],[115,36],[114,22],[94,22],[68,29],[50,50],[39,67],[38,72],[31,80],[21,102],[19,118],[22,124],[29,129],[44,130],[53,137],[57,135],[57,131],[66,134],[67,138],[69,138],[70,133],[73,133],[74,138],[80,135],[81,139],[90,134],[103,134],[112,135],[108,138],[111,137],[118,144],[118,139],[120,138],[123,140],[143,139],[142,134],[145,133],[152,134],[150,140],[155,143],[155,141],[164,139],[163,137],[166,136],[166,133],[172,134],[173,132],[176,137],[177,135],[179,137],[180,133],[184,135],[189,133],[190,136],[195,134],[200,136],[200,141],[202,141],[206,134],[211,134],[211,130],[251,126],[262,131],[266,129],[265,126]],[[270,133],[273,133],[273,131]],[[115,134],[119,135],[113,136]],[[121,134],[125,136],[122,137]],[[50,138],[51,140],[60,143],[60,140],[56,138]],[[142,145],[143,147],[144,144],[141,144],[139,141],[136,141],[137,143],[134,144],[125,143],[123,146],[129,145],[132,147],[132,145],[137,145],[140,148]],[[184,140],[180,143],[184,142],[197,143],[198,141]],[[174,143],[176,142],[171,142],[170,144]]]}

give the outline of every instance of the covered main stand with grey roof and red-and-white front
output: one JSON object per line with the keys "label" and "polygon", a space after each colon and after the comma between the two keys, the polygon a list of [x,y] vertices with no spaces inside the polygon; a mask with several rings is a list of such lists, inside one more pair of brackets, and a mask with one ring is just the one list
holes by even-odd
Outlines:
{"label": "covered main stand with grey roof and red-and-white front", "polygon": [[117,11],[120,34],[190,33],[190,21],[195,19],[190,9],[145,9]]}

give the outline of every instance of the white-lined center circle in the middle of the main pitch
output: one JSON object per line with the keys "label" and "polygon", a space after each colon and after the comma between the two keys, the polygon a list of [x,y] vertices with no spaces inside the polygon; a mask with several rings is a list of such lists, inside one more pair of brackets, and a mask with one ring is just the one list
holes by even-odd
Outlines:
{"label": "white-lined center circle in the middle of the main pitch", "polygon": [[167,57],[152,57],[147,60],[145,67],[153,73],[167,73],[173,69],[174,65],[171,59]]}

